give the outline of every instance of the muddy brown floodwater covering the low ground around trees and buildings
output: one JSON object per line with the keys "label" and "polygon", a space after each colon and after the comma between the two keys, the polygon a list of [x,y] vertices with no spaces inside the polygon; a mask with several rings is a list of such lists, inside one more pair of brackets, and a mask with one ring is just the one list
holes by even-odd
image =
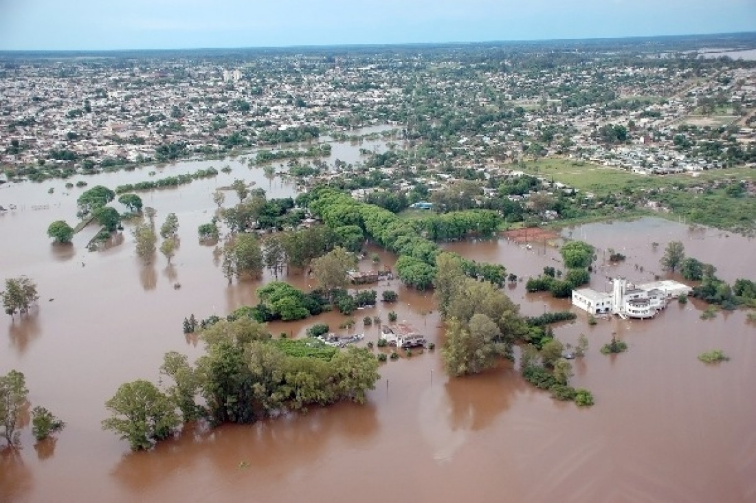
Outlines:
{"label": "muddy brown floodwater covering the low ground around trees and buildings", "polygon": [[[165,171],[225,163],[179,163]],[[212,247],[197,243],[197,225],[215,210],[212,191],[243,176],[271,197],[293,194],[293,187],[265,179],[261,169],[230,164],[229,175],[143,194],[158,222],[166,213],[178,214],[181,247],[171,267],[162,256],[141,265],[128,228],[120,244],[116,240],[104,252],[85,250],[88,230],[70,247],[51,246],[47,225],[74,221],[81,189],[67,191],[64,182],[0,187],[0,204],[18,205],[15,213],[0,216],[2,277],[29,275],[42,297],[28,317],[0,318],[0,372],[23,371],[31,405],[44,405],[67,422],[57,439],[42,444],[25,427],[23,448],[2,452],[0,501],[756,500],[756,327],[742,311],[702,321],[705,306],[697,301],[672,303],[653,320],[607,319],[593,327],[578,313],[574,323],[556,328],[565,342],[576,343],[581,333],[590,340],[587,356],[573,364],[572,383],[593,391],[593,408],[553,401],[510,364],[450,380],[438,350],[426,351],[383,365],[366,405],[314,408],[215,430],[187,426],[153,451],[129,452],[125,442],[101,430],[104,402],[121,383],[156,381],[164,352],[178,350],[193,359],[201,354],[201,344],[181,333],[184,316],[225,315],[255,302],[260,283],[228,287]],[[88,182],[113,187],[145,173]],[[54,194],[48,194],[50,187]],[[591,278],[596,288],[606,287],[611,275],[652,279],[673,239],[683,241],[690,256],[717,265],[728,281],[752,277],[756,256],[752,240],[658,219],[585,225],[563,235],[570,232],[600,249],[600,268]],[[547,241],[529,249],[503,238],[445,247],[503,263],[522,278],[544,265],[560,267],[556,247]],[[606,263],[603,250],[609,247],[627,260]],[[378,251],[381,266],[393,263],[395,257]],[[361,267],[373,265],[366,260]],[[302,276],[292,281],[309,284]],[[177,282],[179,290],[173,288]],[[366,332],[363,344],[377,340],[379,328],[364,330],[361,319],[386,320],[392,309],[429,340],[442,342],[429,293],[396,282],[377,288],[397,290],[399,302],[355,313],[353,331]],[[570,309],[565,300],[525,293],[524,282],[507,293],[527,315]],[[336,326],[343,319],[329,313],[272,324],[271,331],[296,336],[310,324]],[[598,349],[613,333],[630,348],[603,356]],[[696,356],[708,349],[723,349],[732,359],[704,365]]]}

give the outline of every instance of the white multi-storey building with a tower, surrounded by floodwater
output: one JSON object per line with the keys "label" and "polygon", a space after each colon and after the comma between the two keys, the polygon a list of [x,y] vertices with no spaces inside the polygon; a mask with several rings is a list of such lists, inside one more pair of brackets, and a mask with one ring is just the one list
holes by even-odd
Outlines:
{"label": "white multi-storey building with a tower, surrounded by floodwater", "polygon": [[572,290],[572,305],[592,315],[609,314],[621,318],[653,318],[672,297],[689,295],[692,288],[679,281],[664,280],[632,284],[625,278],[612,280],[611,292],[591,288]]}

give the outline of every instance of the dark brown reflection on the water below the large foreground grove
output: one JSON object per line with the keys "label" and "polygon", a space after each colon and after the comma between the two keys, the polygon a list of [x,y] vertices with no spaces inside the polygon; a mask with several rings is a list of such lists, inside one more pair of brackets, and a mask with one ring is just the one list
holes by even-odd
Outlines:
{"label": "dark brown reflection on the water below the large foreground grove", "polygon": [[317,463],[336,439],[349,449],[367,448],[377,430],[375,407],[350,403],[249,425],[207,429],[193,424],[153,451],[124,455],[111,474],[135,497],[181,483],[183,474],[200,463],[203,471],[212,470],[214,486],[225,486],[246,470],[255,477],[280,479]]}

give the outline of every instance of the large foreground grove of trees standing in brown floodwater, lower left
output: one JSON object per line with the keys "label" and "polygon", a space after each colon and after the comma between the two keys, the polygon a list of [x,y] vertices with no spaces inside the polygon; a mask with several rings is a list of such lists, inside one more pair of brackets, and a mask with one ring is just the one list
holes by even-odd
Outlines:
{"label": "large foreground grove of trees standing in brown floodwater, lower left", "polygon": [[253,423],[286,411],[340,400],[363,403],[380,377],[367,349],[338,351],[314,340],[274,340],[264,324],[242,316],[200,332],[206,353],[191,364],[177,352],[160,368],[165,391],[146,380],[125,383],[106,402],[103,427],[150,449],[182,421]]}

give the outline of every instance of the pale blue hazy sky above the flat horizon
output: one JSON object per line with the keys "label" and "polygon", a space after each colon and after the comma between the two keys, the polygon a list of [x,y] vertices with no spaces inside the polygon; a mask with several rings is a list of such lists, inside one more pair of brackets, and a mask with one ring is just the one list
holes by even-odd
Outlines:
{"label": "pale blue hazy sky above the flat horizon", "polygon": [[0,0],[0,50],[584,39],[756,31],[756,0]]}

